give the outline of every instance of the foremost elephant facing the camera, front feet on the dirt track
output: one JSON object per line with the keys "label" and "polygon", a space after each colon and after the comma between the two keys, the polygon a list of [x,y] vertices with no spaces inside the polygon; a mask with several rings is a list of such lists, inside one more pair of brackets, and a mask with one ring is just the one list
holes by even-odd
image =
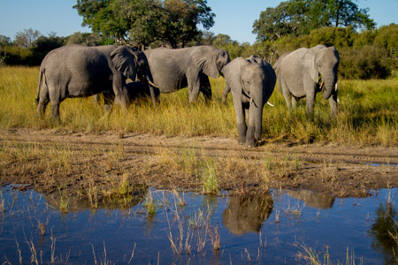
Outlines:
{"label": "foremost elephant facing the camera, front feet on the dirt track", "polygon": [[275,87],[275,72],[271,64],[261,58],[238,57],[226,64],[223,73],[226,79],[224,94],[231,90],[233,95],[239,133],[238,142],[248,148],[255,147],[261,136],[264,104]]}

